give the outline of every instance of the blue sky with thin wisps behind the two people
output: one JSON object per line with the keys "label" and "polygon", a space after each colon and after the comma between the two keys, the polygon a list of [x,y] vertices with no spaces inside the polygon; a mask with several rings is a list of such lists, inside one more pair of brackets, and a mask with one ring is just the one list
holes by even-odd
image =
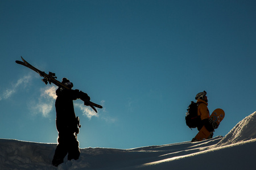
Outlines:
{"label": "blue sky with thin wisps behind the two people", "polygon": [[[80,147],[191,141],[190,101],[224,109],[216,135],[256,111],[256,1],[0,1],[0,138],[55,142],[54,84],[67,77],[103,105],[74,101]],[[168,131],[168,133],[166,133]],[[168,134],[168,135],[166,135]]]}

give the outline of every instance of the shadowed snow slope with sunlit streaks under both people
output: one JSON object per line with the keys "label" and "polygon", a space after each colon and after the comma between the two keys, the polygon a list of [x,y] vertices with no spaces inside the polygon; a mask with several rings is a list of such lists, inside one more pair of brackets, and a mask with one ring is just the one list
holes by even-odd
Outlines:
{"label": "shadowed snow slope with sunlit streaks under both people", "polygon": [[56,143],[0,139],[0,169],[256,169],[256,112],[225,137],[121,150],[81,148],[78,160],[53,167]]}

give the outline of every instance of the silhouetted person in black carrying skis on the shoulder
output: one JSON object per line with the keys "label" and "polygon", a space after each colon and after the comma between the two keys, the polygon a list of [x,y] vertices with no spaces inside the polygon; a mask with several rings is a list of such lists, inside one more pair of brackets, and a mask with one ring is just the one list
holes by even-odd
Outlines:
{"label": "silhouetted person in black carrying skis on the shoulder", "polygon": [[[79,133],[79,128],[77,127],[79,125],[79,120],[74,111],[73,100],[90,100],[90,97],[84,92],[72,90],[73,83],[69,82],[67,78],[63,78],[61,83],[70,89],[59,87],[56,90],[56,128],[59,132],[59,137],[57,139],[58,144],[52,160],[52,164],[56,167],[63,163],[67,154],[68,160],[79,159],[79,142],[76,138],[76,135]],[[85,102],[85,105],[89,104]]]}

